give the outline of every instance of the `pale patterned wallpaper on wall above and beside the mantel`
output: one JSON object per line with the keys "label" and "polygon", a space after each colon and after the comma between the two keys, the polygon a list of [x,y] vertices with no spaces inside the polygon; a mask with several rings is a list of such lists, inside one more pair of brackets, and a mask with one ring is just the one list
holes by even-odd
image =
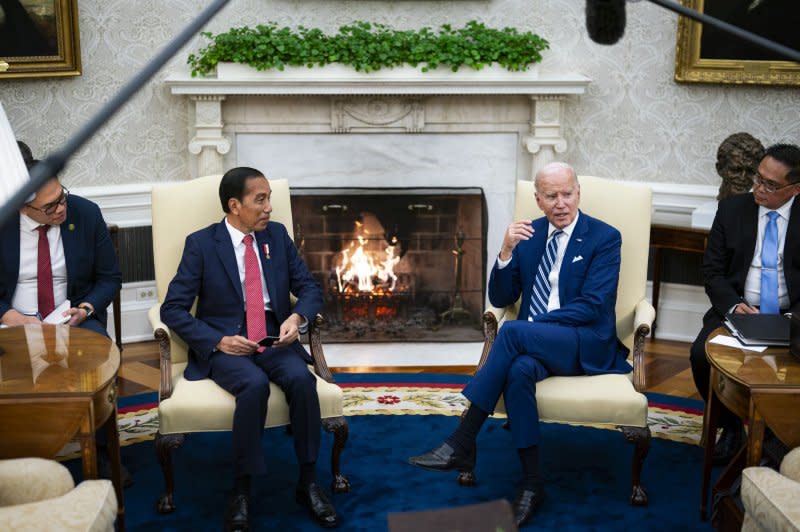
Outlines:
{"label": "pale patterned wallpaper on wall above and beside the mantel", "polygon": [[[82,76],[0,81],[12,127],[39,156],[84,124],[208,1],[78,4]],[[630,3],[625,36],[607,47],[587,36],[584,6],[582,0],[231,0],[208,29],[267,20],[333,31],[359,19],[396,27],[478,19],[534,31],[551,42],[543,69],[576,71],[593,80],[566,116],[570,146],[563,157],[584,174],[717,185],[715,152],[727,135],[748,131],[765,144],[800,142],[800,89],[676,84],[676,15],[646,2]],[[162,83],[169,71],[182,68],[187,54],[180,52],[84,146],[63,176],[67,184],[148,183],[188,175],[186,103]]]}

